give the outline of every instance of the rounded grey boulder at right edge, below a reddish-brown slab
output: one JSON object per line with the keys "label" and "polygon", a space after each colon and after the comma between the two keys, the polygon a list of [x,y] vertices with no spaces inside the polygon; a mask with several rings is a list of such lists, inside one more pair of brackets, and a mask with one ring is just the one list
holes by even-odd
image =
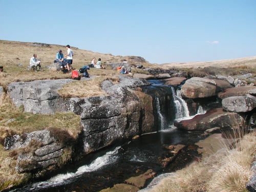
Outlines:
{"label": "rounded grey boulder at right edge, below a reddish-brown slab", "polygon": [[248,112],[256,108],[256,97],[249,94],[227,97],[222,100],[222,106],[230,112]]}

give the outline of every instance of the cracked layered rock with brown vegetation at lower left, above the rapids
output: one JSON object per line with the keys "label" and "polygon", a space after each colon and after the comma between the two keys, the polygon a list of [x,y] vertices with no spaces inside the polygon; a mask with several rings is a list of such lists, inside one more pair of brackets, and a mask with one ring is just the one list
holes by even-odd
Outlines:
{"label": "cracked layered rock with brown vegetation at lower left, above the rapids", "polygon": [[5,150],[17,150],[18,173],[42,170],[51,165],[57,166],[65,148],[48,130],[7,137],[4,147]]}

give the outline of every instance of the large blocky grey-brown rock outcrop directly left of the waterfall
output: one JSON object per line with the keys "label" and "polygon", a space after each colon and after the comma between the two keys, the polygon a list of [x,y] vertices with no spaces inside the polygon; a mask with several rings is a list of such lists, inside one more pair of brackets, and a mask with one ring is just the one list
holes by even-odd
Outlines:
{"label": "large blocky grey-brown rock outcrop directly left of the waterfall", "polygon": [[119,84],[102,82],[101,88],[108,96],[69,100],[67,110],[81,116],[85,154],[152,130],[153,107],[148,107],[152,102],[145,105],[144,96],[140,98],[132,90],[148,84],[145,80],[120,76]]}

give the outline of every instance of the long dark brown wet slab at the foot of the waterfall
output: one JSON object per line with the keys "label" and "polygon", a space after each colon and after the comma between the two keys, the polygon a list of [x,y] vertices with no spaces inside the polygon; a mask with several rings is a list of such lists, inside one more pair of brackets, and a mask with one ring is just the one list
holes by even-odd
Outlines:
{"label": "long dark brown wet slab at the foot of the waterfall", "polygon": [[186,131],[205,131],[212,127],[228,128],[234,123],[241,123],[243,118],[233,112],[225,112],[223,108],[216,108],[202,115],[196,115],[193,119],[176,122],[174,125]]}

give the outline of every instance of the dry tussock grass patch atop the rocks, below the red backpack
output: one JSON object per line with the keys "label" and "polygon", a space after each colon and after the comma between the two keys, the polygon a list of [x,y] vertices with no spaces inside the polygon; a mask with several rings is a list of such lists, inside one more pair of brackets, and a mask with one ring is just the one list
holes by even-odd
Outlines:
{"label": "dry tussock grass patch atop the rocks, below the red backpack", "polygon": [[91,78],[87,81],[73,81],[65,84],[62,89],[58,90],[58,94],[62,98],[71,97],[92,97],[99,95],[107,95],[101,88],[100,83],[104,80],[112,80],[114,83],[119,82],[118,76],[99,76]]}

